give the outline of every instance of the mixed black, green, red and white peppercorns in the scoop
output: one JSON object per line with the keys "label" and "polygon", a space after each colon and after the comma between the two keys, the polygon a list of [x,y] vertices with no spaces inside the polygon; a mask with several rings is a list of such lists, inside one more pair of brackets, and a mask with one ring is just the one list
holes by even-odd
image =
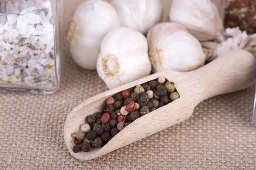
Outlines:
{"label": "mixed black, green, red and white peppercorns in the scoop", "polygon": [[124,90],[109,97],[104,111],[88,116],[80,131],[71,135],[76,144],[73,152],[102,147],[134,120],[179,97],[174,82],[168,82],[164,77],[137,85],[132,93]]}

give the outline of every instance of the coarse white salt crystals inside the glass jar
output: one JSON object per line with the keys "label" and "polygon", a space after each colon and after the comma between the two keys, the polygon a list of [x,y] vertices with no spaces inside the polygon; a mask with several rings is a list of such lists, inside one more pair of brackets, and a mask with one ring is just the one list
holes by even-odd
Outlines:
{"label": "coarse white salt crystals inside the glass jar", "polygon": [[58,85],[52,9],[31,9],[0,16],[0,84],[52,91]]}

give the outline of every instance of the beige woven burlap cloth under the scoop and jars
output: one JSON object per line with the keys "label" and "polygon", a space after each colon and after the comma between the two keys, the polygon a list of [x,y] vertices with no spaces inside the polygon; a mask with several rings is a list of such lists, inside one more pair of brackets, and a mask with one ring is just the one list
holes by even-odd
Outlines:
{"label": "beige woven burlap cloth under the scoop and jars", "polygon": [[[68,1],[66,21],[82,0],[72,6]],[[81,69],[66,57],[55,94],[0,94],[0,169],[256,169],[254,87],[208,99],[186,122],[98,159],[74,159],[64,144],[64,121],[76,105],[107,90],[96,71]]]}

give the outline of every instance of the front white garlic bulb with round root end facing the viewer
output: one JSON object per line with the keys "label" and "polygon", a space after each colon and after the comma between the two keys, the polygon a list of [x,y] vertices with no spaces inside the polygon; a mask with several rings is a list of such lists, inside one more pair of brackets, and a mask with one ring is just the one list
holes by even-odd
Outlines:
{"label": "front white garlic bulb with round root end facing the viewer", "polygon": [[110,31],[101,43],[97,72],[109,89],[148,76],[151,64],[143,34],[125,27]]}

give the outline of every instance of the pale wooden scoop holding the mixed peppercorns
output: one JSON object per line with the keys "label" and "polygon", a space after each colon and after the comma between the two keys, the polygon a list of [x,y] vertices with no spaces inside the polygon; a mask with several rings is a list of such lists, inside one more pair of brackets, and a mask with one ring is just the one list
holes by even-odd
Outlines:
{"label": "pale wooden scoop holding the mixed peppercorns", "polygon": [[[87,116],[102,111],[105,100],[125,89],[148,82],[158,77],[175,82],[180,98],[132,122],[104,147],[91,148],[90,152],[73,153],[72,133],[79,131]],[[181,73],[166,70],[137,81],[122,85],[82,102],[67,116],[64,125],[64,140],[70,153],[77,159],[90,160],[127,144],[143,139],[172,125],[188,119],[201,101],[220,94],[248,88],[256,78],[256,59],[247,51],[235,51],[219,57],[195,71]]]}

